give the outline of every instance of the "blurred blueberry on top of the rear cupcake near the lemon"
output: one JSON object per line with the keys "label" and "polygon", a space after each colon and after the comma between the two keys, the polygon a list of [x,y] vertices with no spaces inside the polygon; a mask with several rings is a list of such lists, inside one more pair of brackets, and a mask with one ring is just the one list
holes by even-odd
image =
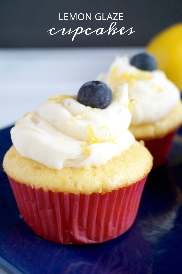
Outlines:
{"label": "blurred blueberry on top of the rear cupcake near the lemon", "polygon": [[148,53],[140,53],[130,60],[130,64],[141,69],[141,70],[149,70],[153,71],[157,68],[157,61],[151,54]]}

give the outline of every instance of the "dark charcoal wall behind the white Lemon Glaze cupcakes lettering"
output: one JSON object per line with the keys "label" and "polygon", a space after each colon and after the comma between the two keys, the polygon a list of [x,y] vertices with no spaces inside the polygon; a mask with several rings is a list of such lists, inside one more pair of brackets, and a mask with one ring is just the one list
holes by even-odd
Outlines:
{"label": "dark charcoal wall behind the white Lemon Glaze cupcakes lettering", "polygon": [[[145,46],[157,32],[182,21],[181,0],[6,0],[0,1],[1,47]],[[109,28],[112,21],[59,21],[59,13],[123,13],[117,27],[133,27],[132,35],[50,35],[47,30],[79,26]]]}

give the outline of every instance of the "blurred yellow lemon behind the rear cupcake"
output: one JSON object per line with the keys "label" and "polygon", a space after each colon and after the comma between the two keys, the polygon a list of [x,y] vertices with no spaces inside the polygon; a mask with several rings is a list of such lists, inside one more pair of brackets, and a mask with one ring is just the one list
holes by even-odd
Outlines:
{"label": "blurred yellow lemon behind the rear cupcake", "polygon": [[182,90],[182,23],[154,36],[147,45],[147,52],[156,57],[158,68]]}

